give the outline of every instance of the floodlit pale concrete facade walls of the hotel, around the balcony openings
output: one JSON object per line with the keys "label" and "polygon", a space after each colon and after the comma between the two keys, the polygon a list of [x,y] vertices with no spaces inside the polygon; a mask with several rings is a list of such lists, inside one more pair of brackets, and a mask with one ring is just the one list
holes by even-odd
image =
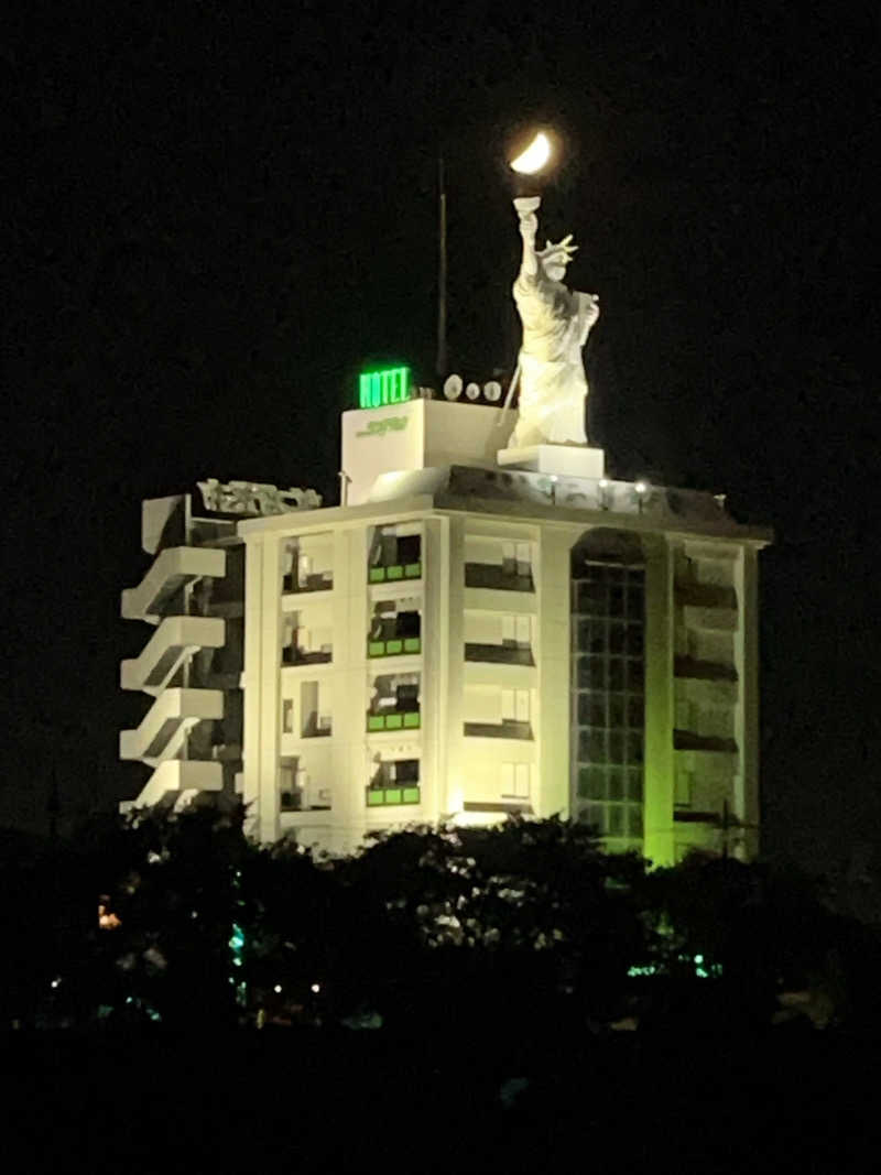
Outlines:
{"label": "floodlit pale concrete facade walls of the hotel, around the balcony openings", "polygon": [[[463,813],[465,805],[502,805],[511,798],[511,779],[525,779],[526,768],[532,811],[537,815],[569,814],[570,552],[589,529],[585,523],[448,512],[430,505],[398,512],[394,503],[334,515],[331,526],[327,517],[291,515],[267,519],[262,528],[246,528],[244,794],[255,805],[260,834],[274,839],[281,831],[295,828],[305,841],[320,839],[331,851],[350,851],[369,828],[411,820],[436,821]],[[612,519],[601,522],[608,525]],[[394,525],[401,532],[421,530],[421,580],[368,583],[368,552],[377,525]],[[287,544],[295,536],[305,543],[311,532],[323,532],[321,542],[325,545],[327,536],[332,536],[332,591],[312,599],[309,593],[282,598]],[[752,563],[749,557],[738,562],[739,544],[701,542],[695,576],[705,578],[699,582],[733,586],[741,609],[754,611],[754,552],[748,552]],[[715,622],[701,622],[701,610],[693,609],[687,620],[688,610],[681,607],[678,639],[681,642],[684,634],[685,647],[699,659],[724,656],[737,663],[744,683],[742,699],[738,694],[740,700],[735,699],[732,709],[729,683],[699,683],[695,687],[694,683],[675,680],[673,565],[677,551],[681,553],[685,545],[648,528],[644,528],[644,545],[648,611],[645,844],[650,855],[666,861],[673,859],[677,841],[693,841],[698,835],[693,828],[674,826],[675,790],[679,786],[681,791],[686,779],[695,798],[704,797],[708,803],[719,788],[727,787],[739,814],[745,819],[758,817],[758,763],[753,750],[758,738],[756,638],[754,624],[751,627],[749,623],[738,622],[734,629],[726,629],[721,622],[727,613],[720,613],[714,626]],[[512,549],[526,552],[533,592],[464,586],[466,560],[500,562],[503,552]],[[377,599],[392,598],[408,598],[419,606],[422,651],[402,658],[369,658],[369,617]],[[282,624],[295,611],[329,617],[331,665],[281,667]],[[527,622],[534,666],[464,662],[466,640],[500,644],[503,632],[510,630],[511,623],[516,626],[518,619]],[[378,674],[396,672],[419,673],[421,727],[369,734],[365,711],[372,683]],[[320,683],[318,707],[332,711],[329,738],[301,738],[305,682]],[[518,691],[529,698],[531,739],[464,734],[465,721],[498,724],[503,717],[516,719]],[[711,763],[706,757],[695,759],[690,752],[674,752],[677,703],[688,707],[688,728],[698,734],[727,737],[727,731],[734,731],[745,747],[737,780],[725,781],[721,759]],[[283,723],[289,728],[283,728]],[[282,759],[295,757],[304,763],[311,760],[316,772],[321,770],[332,779],[330,813],[280,815],[280,765]],[[368,807],[365,788],[376,764],[392,758],[421,760],[421,804]],[[477,819],[479,813],[464,813],[464,818],[471,817]]]}

